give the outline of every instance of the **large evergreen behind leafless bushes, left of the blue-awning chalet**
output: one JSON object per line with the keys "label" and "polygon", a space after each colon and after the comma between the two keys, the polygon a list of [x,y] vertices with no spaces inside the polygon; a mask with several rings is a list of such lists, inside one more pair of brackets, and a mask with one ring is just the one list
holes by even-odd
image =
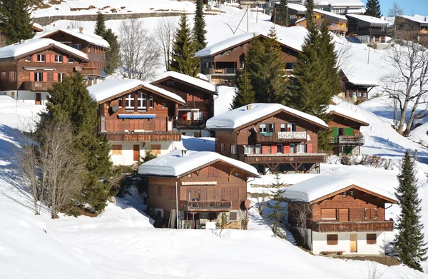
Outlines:
{"label": "large evergreen behind leafless bushes, left of the blue-awning chalet", "polygon": [[108,198],[116,194],[112,190],[116,185],[110,181],[113,172],[108,141],[94,133],[98,125],[97,103],[89,95],[80,73],[64,77],[62,82],[54,83],[48,92],[47,113],[42,115],[39,125],[43,126],[48,118],[70,121],[75,137],[74,148],[86,162],[87,170],[82,181],[83,191],[76,198],[101,212]]}

